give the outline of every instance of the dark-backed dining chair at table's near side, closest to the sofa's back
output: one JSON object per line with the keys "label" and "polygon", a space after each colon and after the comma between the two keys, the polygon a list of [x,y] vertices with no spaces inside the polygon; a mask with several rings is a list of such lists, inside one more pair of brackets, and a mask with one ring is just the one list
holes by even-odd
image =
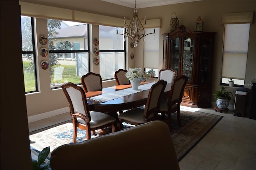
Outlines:
{"label": "dark-backed dining chair at table's near side, closest to the sofa's back", "polygon": [[159,110],[159,99],[163,94],[167,82],[159,80],[150,88],[145,109],[132,108],[118,116],[118,129],[122,130],[122,122],[132,125],[144,124],[152,120],[156,120],[156,113]]}

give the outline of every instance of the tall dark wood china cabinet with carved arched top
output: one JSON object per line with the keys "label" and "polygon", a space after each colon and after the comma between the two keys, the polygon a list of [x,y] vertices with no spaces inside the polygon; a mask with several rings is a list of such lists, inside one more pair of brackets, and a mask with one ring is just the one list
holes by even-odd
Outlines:
{"label": "tall dark wood china cabinet with carved arched top", "polygon": [[211,107],[212,62],[215,32],[190,31],[185,26],[164,36],[163,68],[188,76],[182,105]]}

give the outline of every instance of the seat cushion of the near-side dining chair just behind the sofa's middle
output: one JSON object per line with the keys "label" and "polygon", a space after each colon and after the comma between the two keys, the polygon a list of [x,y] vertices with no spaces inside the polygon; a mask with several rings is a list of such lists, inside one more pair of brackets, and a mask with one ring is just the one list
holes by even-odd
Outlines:
{"label": "seat cushion of the near-side dining chair just behind the sofa's middle", "polygon": [[[150,114],[149,118],[152,118],[154,114]],[[144,123],[144,109],[141,108],[134,108],[127,110],[126,112],[120,114],[118,116],[120,119],[128,120],[130,122],[135,122],[135,123]]]}

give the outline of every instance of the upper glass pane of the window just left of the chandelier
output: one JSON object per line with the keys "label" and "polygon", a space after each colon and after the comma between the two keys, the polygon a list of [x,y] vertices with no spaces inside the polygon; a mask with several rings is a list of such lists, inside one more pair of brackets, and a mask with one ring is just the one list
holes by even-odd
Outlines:
{"label": "upper glass pane of the window just left of the chandelier", "polygon": [[124,36],[116,35],[116,29],[124,32],[123,28],[99,26],[100,50],[124,50]]}

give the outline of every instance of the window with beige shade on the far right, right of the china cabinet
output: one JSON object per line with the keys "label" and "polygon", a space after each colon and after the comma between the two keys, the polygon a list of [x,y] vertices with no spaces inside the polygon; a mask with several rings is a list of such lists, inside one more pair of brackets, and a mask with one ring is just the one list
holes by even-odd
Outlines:
{"label": "window with beige shade on the far right, right of the china cabinet", "polygon": [[244,86],[250,24],[225,24],[221,84]]}

